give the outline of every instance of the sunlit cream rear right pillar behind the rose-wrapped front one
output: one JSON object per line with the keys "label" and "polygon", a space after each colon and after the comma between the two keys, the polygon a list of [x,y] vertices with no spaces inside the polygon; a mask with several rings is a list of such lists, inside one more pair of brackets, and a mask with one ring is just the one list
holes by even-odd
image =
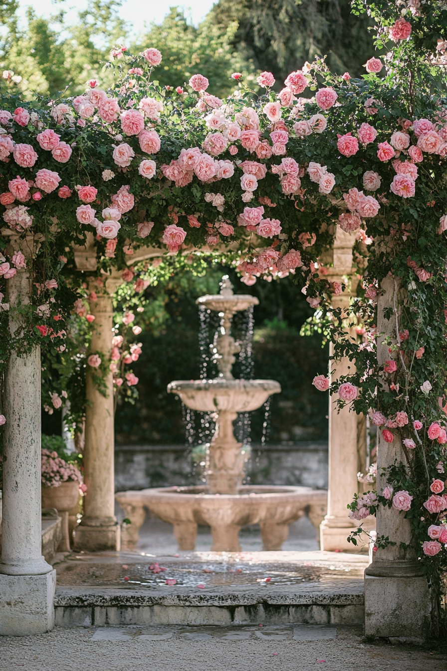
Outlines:
{"label": "sunlit cream rear right pillar behind the rose-wrapped front one", "polygon": [[[332,298],[333,307],[340,307],[348,317],[349,300],[356,295],[358,280],[353,275],[353,244],[355,233],[345,233],[337,227],[334,247],[330,258],[322,258],[322,262],[332,262],[328,268],[326,278],[332,282],[342,282],[346,289],[340,296]],[[350,334],[346,333],[349,338]],[[334,354],[332,343],[330,356]],[[355,370],[354,362],[345,357],[341,361],[330,361],[330,381],[336,381],[339,376],[347,375]],[[358,552],[357,548],[348,543],[347,538],[358,523],[349,519],[346,506],[353,500],[355,492],[359,491],[357,473],[359,472],[358,452],[358,425],[359,417],[349,407],[338,411],[336,397],[329,399],[329,486],[328,486],[328,513],[320,525],[321,550],[348,550]],[[371,518],[372,519],[372,518]],[[371,520],[367,518],[364,527],[371,527]]]}

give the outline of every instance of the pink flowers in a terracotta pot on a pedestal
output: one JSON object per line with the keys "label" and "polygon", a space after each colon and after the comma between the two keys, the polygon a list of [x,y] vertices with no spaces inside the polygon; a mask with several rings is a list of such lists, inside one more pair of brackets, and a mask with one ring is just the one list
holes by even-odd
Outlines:
{"label": "pink flowers in a terracotta pot on a pedestal", "polygon": [[78,503],[84,491],[82,475],[74,464],[60,458],[55,451],[42,450],[42,508],[56,508],[62,517],[59,552],[70,552],[68,511]]}

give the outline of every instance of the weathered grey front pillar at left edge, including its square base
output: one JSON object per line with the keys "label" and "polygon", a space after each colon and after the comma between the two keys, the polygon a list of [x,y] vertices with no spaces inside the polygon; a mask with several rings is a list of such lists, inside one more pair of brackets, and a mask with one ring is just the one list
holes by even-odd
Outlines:
{"label": "weathered grey front pillar at left edge, including its square base", "polygon": [[[20,247],[19,247],[20,246]],[[9,257],[27,258],[32,236],[11,237]],[[18,305],[29,303],[29,270],[7,280],[9,331],[18,335]],[[5,374],[5,450],[3,454],[3,539],[0,562],[0,634],[30,635],[54,627],[56,571],[42,556],[40,349],[13,352]]]}

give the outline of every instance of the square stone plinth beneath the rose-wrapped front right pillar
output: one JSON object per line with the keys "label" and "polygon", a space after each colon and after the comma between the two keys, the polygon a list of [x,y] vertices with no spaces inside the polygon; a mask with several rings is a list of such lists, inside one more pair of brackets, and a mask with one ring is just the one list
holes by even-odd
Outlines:
{"label": "square stone plinth beneath the rose-wrapped front right pillar", "polygon": [[365,636],[424,643],[432,609],[426,578],[365,575]]}

